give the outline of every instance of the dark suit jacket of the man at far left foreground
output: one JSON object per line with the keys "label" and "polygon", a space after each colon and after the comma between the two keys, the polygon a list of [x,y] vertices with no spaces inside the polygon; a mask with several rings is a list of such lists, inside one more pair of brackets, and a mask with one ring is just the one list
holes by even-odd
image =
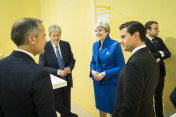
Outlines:
{"label": "dark suit jacket of the man at far left foreground", "polygon": [[56,117],[49,72],[26,53],[0,61],[1,117]]}

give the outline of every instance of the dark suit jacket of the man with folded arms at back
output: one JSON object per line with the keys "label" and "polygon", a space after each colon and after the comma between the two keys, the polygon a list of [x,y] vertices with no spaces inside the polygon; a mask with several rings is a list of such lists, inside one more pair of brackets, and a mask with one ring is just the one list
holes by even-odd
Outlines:
{"label": "dark suit jacket of the man with folded arms at back", "polygon": [[[166,75],[166,69],[164,60],[169,58],[171,56],[171,53],[167,49],[166,45],[164,44],[163,40],[159,37],[155,37],[156,40],[156,46],[146,37],[145,44],[148,47],[149,51],[152,53],[152,55],[155,57],[155,59],[160,59],[158,62],[159,68],[160,68],[160,74],[162,76]],[[159,51],[164,51],[164,57],[161,56]]]}

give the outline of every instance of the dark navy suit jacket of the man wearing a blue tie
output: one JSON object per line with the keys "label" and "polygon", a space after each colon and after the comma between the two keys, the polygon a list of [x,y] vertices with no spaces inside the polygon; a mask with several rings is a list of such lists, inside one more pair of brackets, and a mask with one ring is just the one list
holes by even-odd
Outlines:
{"label": "dark navy suit jacket of the man wearing a blue tie", "polygon": [[[66,41],[60,40],[59,46],[61,49],[62,60],[65,68],[70,67],[72,71],[75,66],[75,59],[73,58],[70,44]],[[48,41],[46,43],[44,54],[40,54],[39,65],[45,67],[51,74],[58,76],[57,71],[58,69],[60,69],[60,67],[51,41]],[[62,78],[61,76],[58,77]],[[72,87],[73,86],[72,73],[66,75],[66,80],[68,86]]]}

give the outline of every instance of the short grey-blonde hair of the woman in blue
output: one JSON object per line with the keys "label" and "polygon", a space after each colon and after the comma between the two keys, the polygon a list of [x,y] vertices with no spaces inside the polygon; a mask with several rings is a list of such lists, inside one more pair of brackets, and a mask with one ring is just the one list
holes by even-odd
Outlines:
{"label": "short grey-blonde hair of the woman in blue", "polygon": [[110,33],[110,26],[107,22],[98,22],[96,25],[95,25],[95,30],[97,28],[104,28],[105,29],[105,32],[108,32],[108,34]]}

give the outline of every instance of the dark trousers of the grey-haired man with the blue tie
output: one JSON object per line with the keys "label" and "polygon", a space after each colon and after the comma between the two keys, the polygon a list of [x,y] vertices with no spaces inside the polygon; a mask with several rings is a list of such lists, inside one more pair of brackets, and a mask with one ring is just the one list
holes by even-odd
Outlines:
{"label": "dark trousers of the grey-haired man with the blue tie", "polygon": [[56,111],[61,117],[71,117],[71,87],[66,86],[54,90]]}

